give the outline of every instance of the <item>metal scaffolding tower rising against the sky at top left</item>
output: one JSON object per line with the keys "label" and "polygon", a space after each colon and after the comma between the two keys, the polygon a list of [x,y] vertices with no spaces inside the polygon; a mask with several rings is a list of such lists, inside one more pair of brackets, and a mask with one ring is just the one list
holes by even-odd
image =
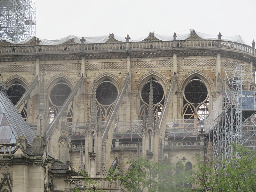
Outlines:
{"label": "metal scaffolding tower rising against the sky at top left", "polygon": [[21,41],[35,35],[34,0],[0,0],[0,37]]}

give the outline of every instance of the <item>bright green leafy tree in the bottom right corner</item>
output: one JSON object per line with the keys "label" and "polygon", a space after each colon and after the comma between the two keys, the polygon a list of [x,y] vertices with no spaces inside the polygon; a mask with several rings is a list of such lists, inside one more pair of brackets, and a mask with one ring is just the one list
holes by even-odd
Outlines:
{"label": "bright green leafy tree in the bottom right corner", "polygon": [[235,149],[230,158],[222,161],[203,161],[197,157],[197,164],[193,171],[198,190],[252,192],[256,191],[256,155],[240,145],[233,145]]}

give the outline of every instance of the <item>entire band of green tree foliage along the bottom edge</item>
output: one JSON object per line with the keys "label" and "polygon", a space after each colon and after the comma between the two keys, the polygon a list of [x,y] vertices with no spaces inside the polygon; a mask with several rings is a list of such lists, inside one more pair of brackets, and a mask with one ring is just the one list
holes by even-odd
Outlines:
{"label": "entire band of green tree foliage along the bottom edge", "polygon": [[[190,191],[256,191],[256,154],[243,146],[234,145],[236,152],[231,158],[222,161],[204,160],[196,156],[197,163],[191,169],[184,161],[171,163],[168,159],[162,163],[140,157],[130,159],[130,168],[123,172],[118,166],[109,170],[106,180],[111,184],[119,180],[123,190],[129,192],[190,192]],[[79,182],[73,192],[98,192],[98,183],[86,172],[83,173],[83,185]],[[192,186],[196,189],[192,189]]]}

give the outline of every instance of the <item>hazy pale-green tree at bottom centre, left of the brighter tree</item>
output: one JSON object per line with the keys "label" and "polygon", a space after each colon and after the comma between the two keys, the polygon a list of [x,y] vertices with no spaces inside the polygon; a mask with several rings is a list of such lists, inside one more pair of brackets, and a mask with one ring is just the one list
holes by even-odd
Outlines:
{"label": "hazy pale-green tree at bottom centre, left of the brighter tree", "polygon": [[130,168],[122,172],[119,167],[116,179],[122,182],[126,191],[142,192],[189,192],[191,191],[192,176],[191,172],[186,171],[184,162],[179,161],[171,164],[166,160],[162,164],[150,161],[148,158],[141,157],[138,160],[129,160]]}

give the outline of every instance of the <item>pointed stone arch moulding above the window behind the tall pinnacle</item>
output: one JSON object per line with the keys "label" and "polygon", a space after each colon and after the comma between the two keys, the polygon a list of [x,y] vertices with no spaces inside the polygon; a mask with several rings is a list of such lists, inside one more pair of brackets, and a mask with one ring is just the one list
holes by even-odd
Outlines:
{"label": "pointed stone arch moulding above the window behind the tall pinnacle", "polygon": [[150,70],[147,73],[144,73],[142,76],[140,76],[140,78],[137,80],[137,82],[134,85],[134,92],[139,92],[141,84],[148,81],[150,77],[154,77],[156,80],[158,80],[164,87],[165,92],[168,90],[170,84],[168,79],[162,73],[156,70]]}

